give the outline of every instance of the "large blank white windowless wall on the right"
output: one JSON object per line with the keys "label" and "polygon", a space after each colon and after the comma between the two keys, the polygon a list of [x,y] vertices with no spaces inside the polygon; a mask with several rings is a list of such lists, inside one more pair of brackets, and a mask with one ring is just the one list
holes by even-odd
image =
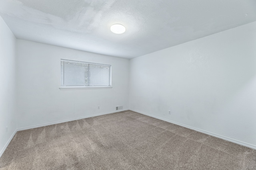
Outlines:
{"label": "large blank white windowless wall on the right", "polygon": [[130,109],[255,146],[255,45],[252,22],[131,59]]}

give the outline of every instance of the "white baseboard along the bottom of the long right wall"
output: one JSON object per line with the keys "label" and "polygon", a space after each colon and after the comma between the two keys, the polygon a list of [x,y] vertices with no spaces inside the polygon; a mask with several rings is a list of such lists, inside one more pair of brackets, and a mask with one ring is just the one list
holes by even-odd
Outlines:
{"label": "white baseboard along the bottom of the long right wall", "polygon": [[192,130],[195,130],[195,131],[198,131],[198,132],[201,132],[201,133],[205,133],[207,135],[211,135],[211,136],[214,136],[214,137],[217,137],[217,138],[220,138],[220,139],[224,139],[226,141],[230,141],[232,143],[236,143],[238,145],[242,145],[242,146],[245,146],[245,147],[248,147],[248,148],[252,148],[252,149],[256,149],[256,146],[255,145],[251,145],[249,143],[245,143],[245,142],[242,142],[242,141],[238,141],[236,139],[231,139],[229,137],[224,137],[222,135],[218,135],[218,134],[215,134],[215,133],[211,133],[211,132],[208,132],[208,131],[204,131],[202,129],[198,129],[198,128],[195,128],[195,127],[191,127],[191,126],[188,126],[188,125],[184,125],[182,123],[178,123],[178,122],[175,122],[175,121],[170,121],[168,119],[164,119],[164,118],[161,118],[161,117],[158,117],[158,116],[154,116],[154,115],[150,115],[148,113],[144,113],[142,111],[137,111],[137,110],[134,110],[134,109],[130,109],[131,111],[135,111],[137,113],[141,113],[143,115],[147,115],[147,116],[150,116],[150,117],[154,117],[156,119],[160,119],[160,120],[163,120],[163,121],[167,121],[167,122],[170,122],[170,123],[173,123],[173,124],[176,124],[176,125],[180,125],[182,127],[186,127],[188,129],[192,129]]}

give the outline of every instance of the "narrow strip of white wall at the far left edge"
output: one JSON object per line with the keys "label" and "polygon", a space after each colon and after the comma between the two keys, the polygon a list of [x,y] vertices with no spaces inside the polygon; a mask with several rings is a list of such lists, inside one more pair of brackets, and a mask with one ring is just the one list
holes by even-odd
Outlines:
{"label": "narrow strip of white wall at the far left edge", "polygon": [[0,17],[0,156],[17,126],[15,59],[16,37]]}

